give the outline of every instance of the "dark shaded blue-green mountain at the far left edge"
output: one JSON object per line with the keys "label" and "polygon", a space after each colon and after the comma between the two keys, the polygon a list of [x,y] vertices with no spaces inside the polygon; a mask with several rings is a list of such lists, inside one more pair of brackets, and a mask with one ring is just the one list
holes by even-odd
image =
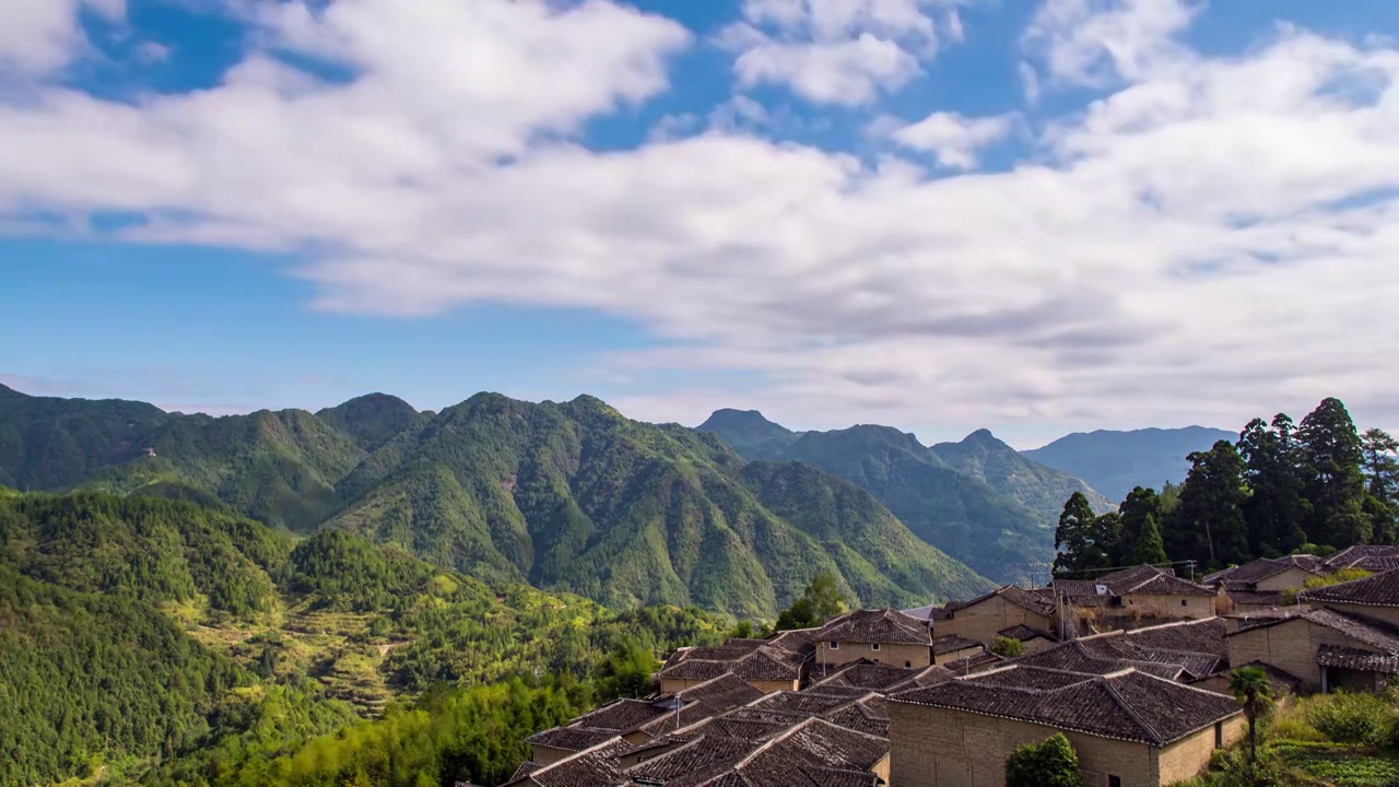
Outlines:
{"label": "dark shaded blue-green mountain at the far left edge", "polygon": [[171,416],[144,402],[27,396],[0,385],[0,486],[57,489],[141,452]]}

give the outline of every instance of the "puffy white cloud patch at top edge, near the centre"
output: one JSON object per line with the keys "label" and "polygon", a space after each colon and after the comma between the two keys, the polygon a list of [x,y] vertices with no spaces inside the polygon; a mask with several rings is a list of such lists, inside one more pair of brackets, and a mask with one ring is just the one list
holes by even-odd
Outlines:
{"label": "puffy white cloud patch at top edge, near the centre", "polygon": [[[814,104],[859,105],[895,91],[937,52],[933,8],[953,0],[744,0],[719,35],[739,85],[786,85]],[[943,27],[963,39],[956,8]]]}

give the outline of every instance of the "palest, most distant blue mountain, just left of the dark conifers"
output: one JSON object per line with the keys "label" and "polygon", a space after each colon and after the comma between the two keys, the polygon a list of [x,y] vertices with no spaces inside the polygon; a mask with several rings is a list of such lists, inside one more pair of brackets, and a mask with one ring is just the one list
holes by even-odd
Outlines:
{"label": "palest, most distant blue mountain, just left of the dark conifers", "polygon": [[1044,448],[1021,451],[1025,457],[1083,479],[1108,500],[1122,500],[1132,489],[1181,483],[1191,469],[1185,458],[1207,451],[1219,440],[1238,437],[1221,429],[1139,429],[1074,433]]}

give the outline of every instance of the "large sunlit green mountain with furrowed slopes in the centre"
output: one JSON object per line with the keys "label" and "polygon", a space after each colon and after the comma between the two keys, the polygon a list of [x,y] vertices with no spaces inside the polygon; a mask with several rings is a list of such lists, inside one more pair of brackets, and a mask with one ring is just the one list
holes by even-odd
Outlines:
{"label": "large sunlit green mountain with furrowed slopes in the centre", "polygon": [[[818,479],[809,483],[842,486]],[[845,542],[814,534],[820,503],[767,508],[719,440],[631,422],[589,396],[562,405],[473,396],[411,440],[389,441],[341,490],[358,499],[332,527],[460,570],[513,567],[536,587],[614,606],[698,604],[771,618],[823,570],[866,604],[926,604],[985,587],[936,550],[914,556],[926,566],[907,566],[909,584],[877,581],[874,566],[911,557],[893,553],[902,528],[873,500],[848,508]]]}

